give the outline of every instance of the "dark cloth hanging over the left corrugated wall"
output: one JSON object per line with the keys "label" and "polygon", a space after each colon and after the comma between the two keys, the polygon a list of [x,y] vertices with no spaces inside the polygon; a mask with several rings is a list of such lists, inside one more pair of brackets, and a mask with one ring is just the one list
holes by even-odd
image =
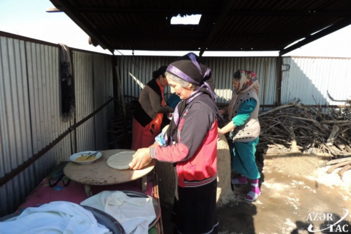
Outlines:
{"label": "dark cloth hanging over the left corrugated wall", "polygon": [[64,44],[60,53],[61,112],[65,121],[72,120],[75,111],[74,80],[72,73],[71,54]]}

